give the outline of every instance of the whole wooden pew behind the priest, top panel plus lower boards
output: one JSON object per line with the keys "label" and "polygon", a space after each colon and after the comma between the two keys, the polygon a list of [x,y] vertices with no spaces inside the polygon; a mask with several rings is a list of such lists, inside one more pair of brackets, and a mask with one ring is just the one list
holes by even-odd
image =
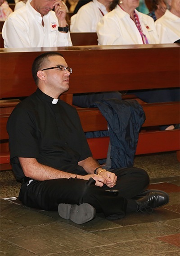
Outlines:
{"label": "whole wooden pew behind the priest, top panel plus lower boards", "polygon": [[[72,67],[70,88],[61,96],[69,104],[72,104],[72,95],[76,93],[179,87],[179,50],[180,47],[176,44],[0,49],[0,98],[21,98],[36,90],[31,77],[31,64],[36,56],[46,51],[61,52]],[[154,60],[152,56],[158,56],[156,62],[151,61]],[[1,119],[7,118],[14,106],[9,106],[8,101],[0,105],[1,122]],[[142,106],[146,114],[143,127],[151,127],[151,130],[146,129],[139,133],[136,154],[179,151],[179,130],[155,129],[159,125],[180,123],[180,103]],[[107,129],[107,122],[98,109],[77,108],[77,111],[85,132]],[[2,121],[2,127],[3,125]],[[1,137],[3,139],[7,137]],[[92,138],[88,142],[95,158],[106,157],[108,137]],[[101,145],[100,152],[97,151],[97,145]],[[4,147],[8,151],[7,141]]]}

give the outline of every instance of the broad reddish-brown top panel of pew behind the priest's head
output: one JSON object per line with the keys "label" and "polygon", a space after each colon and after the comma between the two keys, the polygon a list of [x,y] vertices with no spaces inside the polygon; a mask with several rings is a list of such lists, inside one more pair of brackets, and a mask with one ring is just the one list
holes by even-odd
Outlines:
{"label": "broad reddish-brown top panel of pew behind the priest's head", "polygon": [[[34,92],[32,62],[40,53],[54,50],[62,53],[72,67],[70,88],[65,95],[180,85],[177,44],[4,48],[0,49],[0,98],[24,97]],[[153,57],[157,57],[156,62]]]}

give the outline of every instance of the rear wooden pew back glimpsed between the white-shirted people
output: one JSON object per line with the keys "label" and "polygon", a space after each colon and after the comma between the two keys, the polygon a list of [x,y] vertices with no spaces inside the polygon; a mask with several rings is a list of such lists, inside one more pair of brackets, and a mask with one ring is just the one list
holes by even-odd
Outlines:
{"label": "rear wooden pew back glimpsed between the white-shirted people", "polygon": [[[98,45],[98,36],[96,33],[70,32],[70,34],[73,46]],[[4,48],[4,39],[2,38],[2,33],[0,33],[0,48]]]}

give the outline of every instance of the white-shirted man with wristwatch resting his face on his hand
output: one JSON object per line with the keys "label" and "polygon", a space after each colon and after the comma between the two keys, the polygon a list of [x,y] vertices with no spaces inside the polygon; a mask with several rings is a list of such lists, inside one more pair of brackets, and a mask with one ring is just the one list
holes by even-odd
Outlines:
{"label": "white-shirted man with wristwatch resting his face on his hand", "polygon": [[5,48],[72,46],[65,4],[62,0],[27,1],[9,15],[2,37]]}

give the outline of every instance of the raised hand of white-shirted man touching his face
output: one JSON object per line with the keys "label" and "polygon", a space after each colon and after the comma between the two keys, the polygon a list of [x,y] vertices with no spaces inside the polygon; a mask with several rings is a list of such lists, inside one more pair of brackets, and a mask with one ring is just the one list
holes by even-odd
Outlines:
{"label": "raised hand of white-shirted man touching his face", "polygon": [[54,11],[58,18],[59,27],[66,27],[66,6],[63,4],[62,0],[54,1]]}

